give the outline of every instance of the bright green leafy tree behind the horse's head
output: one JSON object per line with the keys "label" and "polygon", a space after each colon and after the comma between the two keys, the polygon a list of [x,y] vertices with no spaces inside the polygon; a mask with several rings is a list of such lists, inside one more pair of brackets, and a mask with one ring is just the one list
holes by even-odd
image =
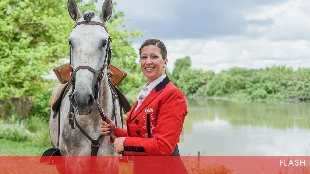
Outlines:
{"label": "bright green leafy tree behind the horse's head", "polygon": [[[82,13],[94,11],[95,0],[82,5],[79,2]],[[67,0],[2,0],[0,16],[0,99],[45,91],[48,87],[42,76],[60,58],[69,59],[67,40],[74,21],[69,17]],[[123,12],[114,11],[107,23],[113,39],[112,64],[135,71],[138,55],[126,38],[140,37],[142,33],[135,29],[119,31],[117,26],[125,25],[123,17]],[[132,78],[129,75],[128,79]]]}

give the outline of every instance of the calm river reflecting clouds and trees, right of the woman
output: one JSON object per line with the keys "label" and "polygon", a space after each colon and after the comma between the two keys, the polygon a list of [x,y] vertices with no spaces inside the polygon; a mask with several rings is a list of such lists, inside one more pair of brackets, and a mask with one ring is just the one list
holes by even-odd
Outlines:
{"label": "calm river reflecting clouds and trees, right of the woman", "polygon": [[310,155],[310,104],[187,99],[180,155]]}

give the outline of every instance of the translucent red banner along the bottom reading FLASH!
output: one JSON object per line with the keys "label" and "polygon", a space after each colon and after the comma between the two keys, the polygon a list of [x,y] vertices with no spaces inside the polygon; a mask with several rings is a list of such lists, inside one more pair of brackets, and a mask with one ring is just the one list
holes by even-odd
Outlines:
{"label": "translucent red banner along the bottom reading FLASH!", "polygon": [[310,156],[0,156],[0,173],[306,174]]}

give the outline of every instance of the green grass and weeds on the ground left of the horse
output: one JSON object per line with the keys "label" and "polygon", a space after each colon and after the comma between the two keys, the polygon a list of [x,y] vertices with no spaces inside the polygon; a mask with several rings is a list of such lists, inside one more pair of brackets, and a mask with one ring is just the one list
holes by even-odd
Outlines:
{"label": "green grass and weeds on the ground left of the horse", "polygon": [[48,122],[40,117],[0,120],[0,155],[42,155],[52,148]]}

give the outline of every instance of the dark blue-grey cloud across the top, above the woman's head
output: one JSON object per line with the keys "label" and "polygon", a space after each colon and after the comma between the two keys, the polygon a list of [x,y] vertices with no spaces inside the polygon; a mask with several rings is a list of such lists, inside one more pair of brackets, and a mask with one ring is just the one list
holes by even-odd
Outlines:
{"label": "dark blue-grey cloud across the top, above the woman's head", "polygon": [[[148,31],[147,38],[210,38],[243,34],[248,24],[270,25],[270,19],[246,19],[243,11],[281,1],[119,0],[115,9],[124,11],[125,17],[131,19],[126,28]],[[103,2],[96,3],[98,9]]]}

